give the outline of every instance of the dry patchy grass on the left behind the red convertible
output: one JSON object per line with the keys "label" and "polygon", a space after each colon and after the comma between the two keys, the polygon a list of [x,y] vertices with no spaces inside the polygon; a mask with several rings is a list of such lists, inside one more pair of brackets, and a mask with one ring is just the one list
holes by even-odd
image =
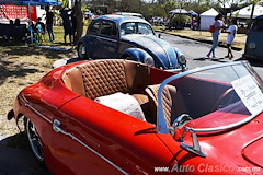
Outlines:
{"label": "dry patchy grass on the left behind the red convertible", "polygon": [[44,42],[42,45],[67,47],[70,50],[55,51],[24,43],[9,44],[0,40],[0,115],[5,115],[13,106],[15,96],[25,86],[37,82],[52,70],[54,61],[76,57],[73,47],[64,45],[64,30],[56,26],[56,43]]}

